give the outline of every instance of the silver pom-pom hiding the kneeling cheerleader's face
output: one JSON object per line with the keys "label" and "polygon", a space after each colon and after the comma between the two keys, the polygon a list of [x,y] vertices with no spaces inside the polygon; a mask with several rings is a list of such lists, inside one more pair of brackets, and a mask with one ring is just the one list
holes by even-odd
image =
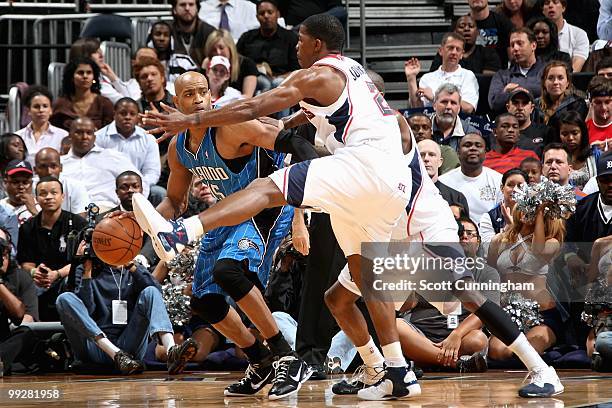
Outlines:
{"label": "silver pom-pom hiding the kneeling cheerleader's face", "polygon": [[516,208],[524,215],[525,222],[533,222],[538,208],[546,203],[544,217],[568,219],[576,211],[576,193],[570,185],[562,186],[542,177],[536,184],[524,183],[515,187],[512,198]]}

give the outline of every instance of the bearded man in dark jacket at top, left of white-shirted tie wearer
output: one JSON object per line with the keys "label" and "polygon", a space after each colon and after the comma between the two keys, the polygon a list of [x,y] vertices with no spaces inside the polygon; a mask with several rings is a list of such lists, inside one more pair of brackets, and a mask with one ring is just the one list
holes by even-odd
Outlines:
{"label": "bearded man in dark jacket at top, left of white-shirted tie wearer", "polygon": [[200,20],[198,13],[202,6],[197,0],[170,0],[170,5],[174,50],[189,55],[200,66],[204,54],[198,44],[204,44],[215,27]]}

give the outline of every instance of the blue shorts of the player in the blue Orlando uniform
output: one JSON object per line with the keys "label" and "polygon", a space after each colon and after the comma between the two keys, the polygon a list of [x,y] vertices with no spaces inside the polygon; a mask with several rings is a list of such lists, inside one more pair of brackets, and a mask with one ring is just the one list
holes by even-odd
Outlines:
{"label": "blue shorts of the player in the blue Orlando uniform", "polygon": [[[270,210],[265,211],[273,214]],[[257,216],[239,225],[208,232],[202,238],[196,261],[193,296],[201,298],[209,293],[227,295],[214,282],[212,274],[219,259],[246,261],[248,270],[256,274],[262,287],[265,287],[272,267],[272,257],[289,233],[292,219],[293,207],[284,206],[276,211],[273,218],[267,217],[261,221],[261,217]]]}

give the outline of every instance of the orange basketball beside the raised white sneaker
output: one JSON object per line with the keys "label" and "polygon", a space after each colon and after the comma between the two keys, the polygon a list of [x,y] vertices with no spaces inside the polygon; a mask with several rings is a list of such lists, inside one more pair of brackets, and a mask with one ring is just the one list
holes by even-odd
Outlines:
{"label": "orange basketball beside the raised white sneaker", "polygon": [[94,229],[92,245],[103,262],[114,266],[125,265],[142,248],[142,230],[132,218],[104,218]]}

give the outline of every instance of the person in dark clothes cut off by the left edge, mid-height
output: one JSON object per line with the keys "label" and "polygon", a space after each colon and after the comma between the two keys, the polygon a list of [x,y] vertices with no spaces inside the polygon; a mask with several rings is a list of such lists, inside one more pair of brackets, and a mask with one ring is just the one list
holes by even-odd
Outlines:
{"label": "person in dark clothes cut off by the left edge, mid-height", "polygon": [[[21,323],[30,323],[38,321],[38,297],[36,296],[36,287],[28,272],[19,267],[11,249],[14,243],[11,242],[11,235],[4,227],[0,227],[0,253],[2,253],[2,266],[0,267],[0,285],[4,285],[14,296],[17,297],[25,308]],[[8,252],[8,254],[6,253]],[[7,259],[8,258],[8,259]],[[0,289],[2,292],[2,289]],[[3,299],[4,298],[4,299]],[[8,297],[0,293],[0,309],[6,308],[6,300]],[[0,313],[1,315],[2,313]],[[2,319],[2,317],[0,317]],[[19,323],[13,321],[16,326]],[[0,326],[2,323],[0,323]],[[2,336],[0,336],[2,337]],[[1,371],[0,371],[1,372]]]}

